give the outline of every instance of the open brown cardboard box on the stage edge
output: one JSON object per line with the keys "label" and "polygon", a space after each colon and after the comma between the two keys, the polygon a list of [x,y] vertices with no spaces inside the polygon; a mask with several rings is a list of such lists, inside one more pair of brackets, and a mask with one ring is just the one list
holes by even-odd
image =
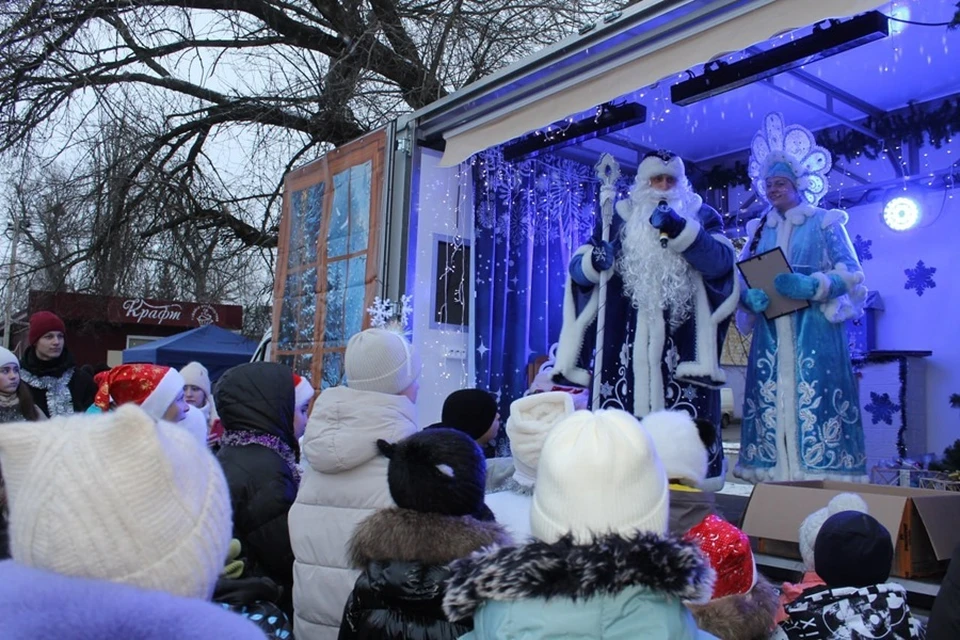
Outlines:
{"label": "open brown cardboard box on the stage edge", "polygon": [[960,544],[960,494],[954,492],[830,480],[758,484],[741,528],[760,553],[799,559],[800,523],[843,492],[859,494],[890,532],[892,575],[937,577],[946,571]]}

